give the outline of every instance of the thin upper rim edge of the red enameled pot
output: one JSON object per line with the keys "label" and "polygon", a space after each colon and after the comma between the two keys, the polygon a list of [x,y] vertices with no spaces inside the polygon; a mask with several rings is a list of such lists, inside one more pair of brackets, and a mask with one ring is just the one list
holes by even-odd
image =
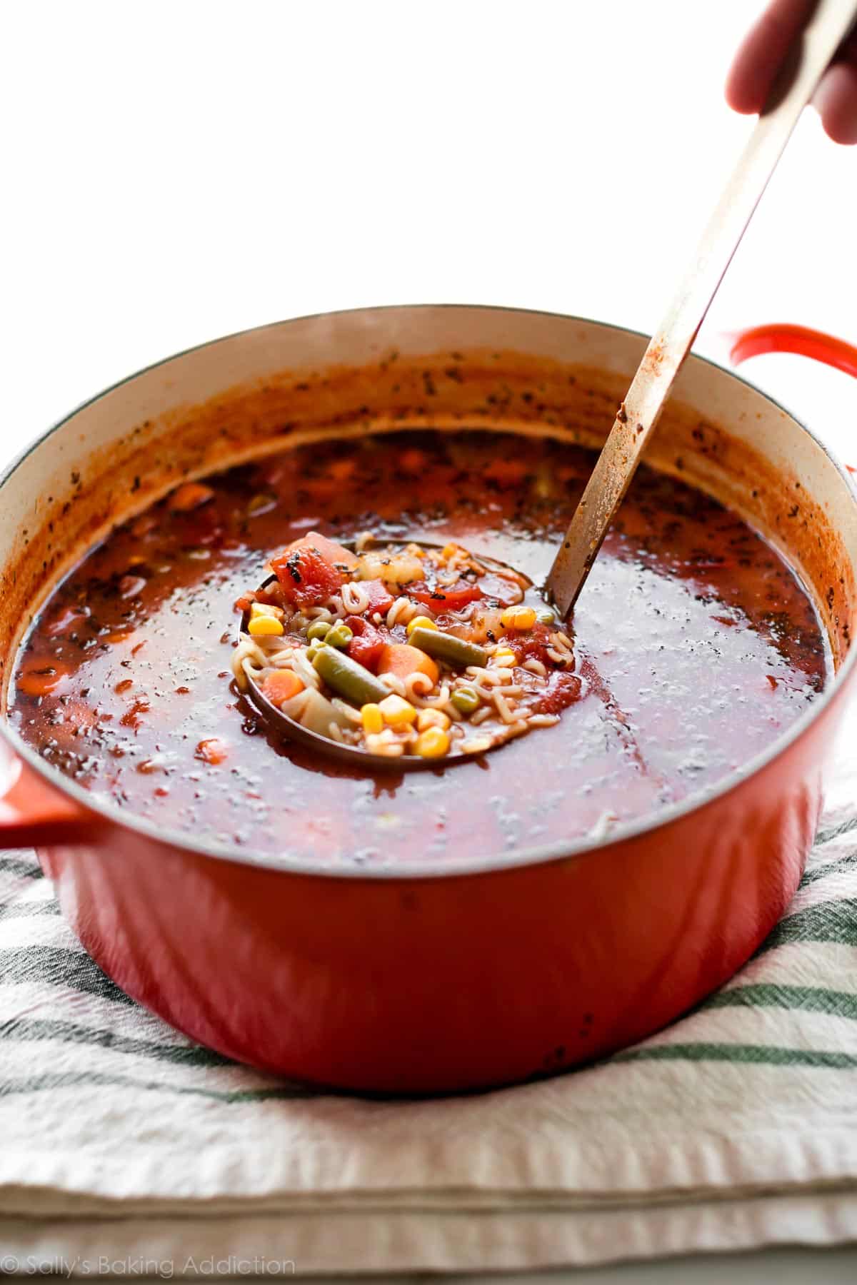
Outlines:
{"label": "thin upper rim edge of the red enameled pot", "polygon": [[[73,410],[62,419],[57,420],[50,425],[44,433],[36,437],[32,442],[23,447],[14,456],[14,459],[6,464],[0,470],[0,488],[5,486],[8,479],[13,473],[21,466],[21,464],[37,450],[44,442],[46,442],[54,433],[57,433],[64,424],[78,415],[82,410],[100,401],[102,397],[107,397],[109,393],[114,392],[117,388],[125,387],[125,384],[132,383],[140,375],[148,374],[150,370],[157,370],[159,366],[166,366],[171,361],[176,361],[180,357],[186,357],[193,352],[200,352],[204,348],[211,348],[217,343],[224,343],[230,339],[238,339],[245,334],[256,334],[262,330],[275,330],[284,325],[297,324],[299,321],[314,321],[321,317],[331,316],[349,316],[357,314],[378,314],[378,312],[400,312],[400,311],[415,311],[425,308],[428,310],[448,310],[448,311],[484,311],[484,312],[515,312],[518,315],[532,315],[551,317],[558,321],[579,321],[585,325],[600,326],[604,330],[614,330],[622,334],[636,335],[639,339],[648,341],[642,330],[635,330],[632,326],[617,325],[612,321],[599,321],[595,317],[578,316],[577,314],[567,312],[554,312],[549,308],[519,308],[510,305],[491,305],[491,303],[382,303],[373,305],[369,307],[360,308],[334,308],[324,312],[311,312],[299,317],[285,317],[279,321],[269,321],[258,326],[247,326],[243,330],[234,330],[230,334],[218,335],[216,339],[207,339],[204,343],[193,344],[189,348],[182,348],[179,352],[173,352],[167,357],[162,357],[158,361],[150,362],[148,366],[141,366],[132,374],[118,379],[116,383],[109,384],[100,392],[95,393],[93,397],[86,398],[86,401],[80,402]],[[711,357],[704,357],[700,353],[691,352],[689,355],[689,361],[699,361],[704,365],[713,366],[716,370],[722,371],[738,383],[744,384],[747,388],[753,389],[761,397],[764,397],[772,406],[781,410],[800,428],[807,436],[818,446],[824,454],[827,456],[835,470],[845,482],[848,491],[851,492],[854,506],[857,508],[857,490],[852,478],[849,477],[847,469],[843,466],[836,455],[830,450],[830,447],[822,442],[816,433],[803,423],[793,411],[784,406],[770,393],[758,388],[752,380],[747,379],[744,375],[736,374],[727,366],[718,361],[713,361]],[[605,848],[614,847],[633,839],[639,839],[642,835],[654,834],[658,830],[667,829],[669,825],[684,820],[693,812],[702,811],[703,808],[720,802],[732,790],[739,789],[748,781],[752,776],[755,776],[764,767],[773,763],[781,754],[784,754],[795,741],[798,741],[803,734],[815,723],[831,705],[834,700],[838,700],[842,695],[845,682],[853,675],[854,667],[857,666],[857,646],[852,646],[848,655],[843,660],[838,672],[834,675],[833,682],[826,687],[817,700],[813,700],[804,714],[802,714],[789,730],[779,736],[768,749],[757,754],[754,758],[743,763],[739,768],[730,772],[727,776],[722,777],[716,785],[711,786],[708,790],[700,790],[695,794],[690,794],[686,799],[676,803],[671,807],[666,807],[657,812],[649,813],[642,817],[637,817],[632,821],[617,825],[615,829],[610,830],[601,838],[590,839],[586,835],[579,839],[567,842],[558,840],[550,844],[541,844],[536,847],[523,848],[515,851],[514,853],[504,853],[502,856],[491,857],[477,857],[466,861],[450,861],[448,865],[442,865],[439,862],[414,862],[412,865],[378,865],[378,866],[333,866],[324,865],[321,862],[299,860],[297,857],[278,857],[272,860],[270,857],[256,857],[252,853],[242,851],[240,848],[229,848],[226,844],[218,843],[206,843],[194,842],[190,834],[184,834],[180,830],[164,830],[158,826],[154,821],[146,821],[144,817],[131,815],[125,815],[116,803],[102,802],[98,795],[93,794],[81,785],[76,785],[75,781],[63,776],[57,768],[50,767],[45,761],[18,735],[18,732],[10,726],[8,718],[0,718],[0,739],[4,740],[14,754],[23,759],[23,762],[32,768],[40,777],[58,789],[60,793],[69,795],[76,803],[81,806],[85,811],[95,812],[105,817],[113,825],[121,829],[128,829],[139,834],[145,835],[149,839],[155,839],[161,844],[168,844],[172,848],[184,849],[186,852],[193,852],[203,857],[211,857],[216,861],[229,861],[235,865],[253,866],[256,869],[267,870],[283,875],[306,875],[306,876],[322,876],[333,879],[358,879],[358,880],[414,880],[414,879],[447,879],[447,878],[461,878],[465,875],[488,875],[488,874],[504,874],[505,871],[513,871],[524,866],[541,865],[554,861],[567,861],[574,857],[582,857],[592,852],[599,852]]]}

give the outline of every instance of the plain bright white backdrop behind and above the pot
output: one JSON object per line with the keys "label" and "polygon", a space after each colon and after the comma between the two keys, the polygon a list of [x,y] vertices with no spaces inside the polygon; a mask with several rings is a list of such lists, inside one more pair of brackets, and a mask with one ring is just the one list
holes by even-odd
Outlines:
{"label": "plain bright white backdrop behind and above the pot", "polygon": [[[5,6],[0,461],[139,366],[303,312],[481,302],[653,329],[750,127],[722,81],[757,9]],[[857,149],[808,112],[699,347],[763,321],[857,342],[856,229]],[[857,463],[857,383],[745,369]]]}

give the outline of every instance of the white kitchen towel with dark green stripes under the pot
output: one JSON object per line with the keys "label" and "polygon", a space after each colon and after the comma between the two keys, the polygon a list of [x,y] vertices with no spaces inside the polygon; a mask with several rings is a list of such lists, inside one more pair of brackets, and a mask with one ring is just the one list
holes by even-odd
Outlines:
{"label": "white kitchen towel with dark green stripes under the pot", "polygon": [[[0,858],[0,1270],[536,1268],[857,1239],[857,763],[788,915],[668,1031],[555,1079],[362,1101],[130,1001]],[[844,802],[843,802],[844,799]]]}

